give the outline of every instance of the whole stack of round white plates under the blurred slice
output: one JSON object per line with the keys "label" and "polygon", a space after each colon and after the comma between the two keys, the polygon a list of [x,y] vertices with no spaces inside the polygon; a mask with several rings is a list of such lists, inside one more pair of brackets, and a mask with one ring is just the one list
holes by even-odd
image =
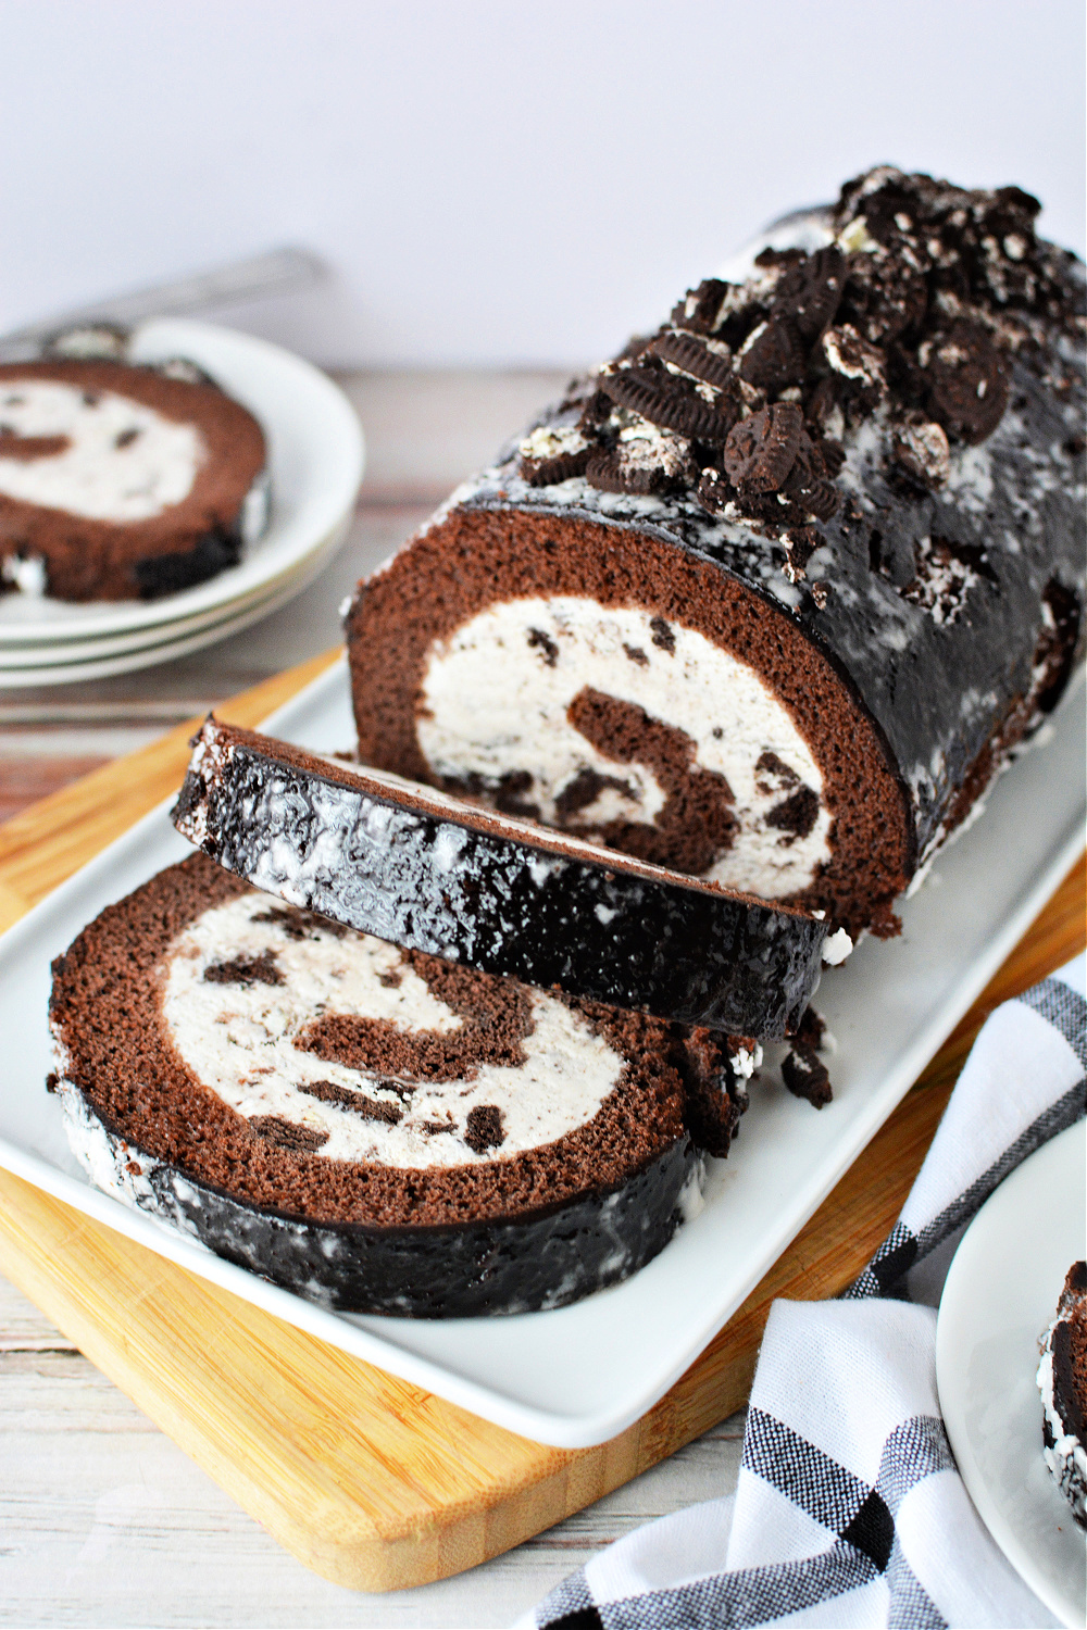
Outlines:
{"label": "whole stack of round white plates under the blurred slice", "polygon": [[187,357],[261,422],[272,491],[267,531],[241,562],[161,600],[72,605],[0,597],[0,688],[68,685],[210,645],[300,593],[350,525],[363,440],[344,393],[300,357],[249,334],[160,318],[135,329],[134,362]]}

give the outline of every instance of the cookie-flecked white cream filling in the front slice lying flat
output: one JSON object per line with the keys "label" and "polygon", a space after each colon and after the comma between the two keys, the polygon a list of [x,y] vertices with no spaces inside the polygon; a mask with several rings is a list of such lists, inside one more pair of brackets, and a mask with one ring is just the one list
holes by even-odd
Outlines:
{"label": "cookie-flecked white cream filling in the front slice lying flat", "polygon": [[[401,952],[368,934],[313,927],[290,939],[254,916],[284,910],[249,893],[213,906],[169,947],[163,1020],[174,1050],[205,1087],[240,1115],[279,1115],[328,1133],[316,1151],[332,1161],[380,1161],[394,1167],[471,1165],[554,1143],[600,1110],[624,1061],[564,1002],[533,991],[533,1030],[520,1066],[481,1063],[471,1079],[412,1081],[403,1097],[375,1073],[328,1063],[295,1046],[315,1019],[357,1014],[398,1030],[450,1035],[463,1020],[435,998]],[[209,963],[275,954],[282,985],[207,981]],[[399,976],[383,985],[381,976]],[[331,1081],[403,1110],[399,1123],[368,1120],[300,1090],[298,1082]],[[504,1141],[484,1154],[464,1141],[473,1108],[502,1113]],[[427,1131],[442,1123],[448,1131]]]}

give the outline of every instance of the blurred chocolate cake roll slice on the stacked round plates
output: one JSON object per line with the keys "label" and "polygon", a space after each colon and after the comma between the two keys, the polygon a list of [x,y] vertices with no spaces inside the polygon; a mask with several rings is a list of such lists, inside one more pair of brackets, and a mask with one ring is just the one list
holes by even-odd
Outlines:
{"label": "blurred chocolate cake roll slice on the stacked round plates", "polygon": [[0,592],[153,600],[236,566],[266,517],[264,434],[199,370],[0,365]]}

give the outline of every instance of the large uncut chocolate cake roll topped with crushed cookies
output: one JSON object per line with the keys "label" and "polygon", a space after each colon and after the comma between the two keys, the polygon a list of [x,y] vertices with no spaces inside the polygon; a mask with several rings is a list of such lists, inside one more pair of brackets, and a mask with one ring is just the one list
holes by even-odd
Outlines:
{"label": "large uncut chocolate cake roll topped with crushed cookies", "polygon": [[1082,654],[1036,212],[874,170],[574,381],[360,587],[362,761],[893,932]]}

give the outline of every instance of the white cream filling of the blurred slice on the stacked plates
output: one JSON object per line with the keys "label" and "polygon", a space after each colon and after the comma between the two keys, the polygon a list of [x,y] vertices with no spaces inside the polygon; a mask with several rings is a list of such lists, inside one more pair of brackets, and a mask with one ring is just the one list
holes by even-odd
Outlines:
{"label": "white cream filling of the blurred slice on the stacked plates", "polygon": [[0,386],[0,425],[23,440],[68,440],[59,453],[5,458],[0,434],[0,492],[88,520],[161,515],[189,496],[207,456],[196,425],[114,391],[81,391],[54,380]]}

